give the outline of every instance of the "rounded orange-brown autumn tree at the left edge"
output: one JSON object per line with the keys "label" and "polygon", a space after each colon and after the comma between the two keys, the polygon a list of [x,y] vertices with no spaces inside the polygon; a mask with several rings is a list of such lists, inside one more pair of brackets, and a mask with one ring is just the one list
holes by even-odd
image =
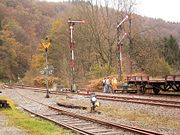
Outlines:
{"label": "rounded orange-brown autumn tree at the left edge", "polygon": [[0,79],[23,77],[29,67],[28,49],[17,42],[9,31],[1,31],[0,41]]}

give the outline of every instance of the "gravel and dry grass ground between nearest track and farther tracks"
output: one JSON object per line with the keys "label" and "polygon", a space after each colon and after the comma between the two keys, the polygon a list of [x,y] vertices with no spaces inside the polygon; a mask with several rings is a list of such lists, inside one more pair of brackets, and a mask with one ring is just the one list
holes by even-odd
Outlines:
{"label": "gravel and dry grass ground between nearest track and farther tracks", "polygon": [[[28,97],[34,98],[40,102],[47,103],[49,105],[56,105],[57,102],[63,101],[74,104],[80,103],[82,105],[88,106],[89,108],[91,106],[90,99],[88,97],[77,96],[73,94],[68,94],[67,96],[50,94],[50,98],[45,98],[46,93],[33,92],[33,90],[5,89],[2,90],[2,93],[0,95],[8,96],[14,99],[17,104],[20,104],[21,99],[18,98],[18,94],[16,93],[16,91],[21,92],[22,95],[26,95]],[[101,103],[101,107],[97,108],[97,110],[101,112],[100,114],[90,113],[90,109],[87,110],[70,109],[70,108],[64,108],[64,109],[74,113],[80,113],[92,117],[97,117],[102,120],[112,121],[119,124],[137,126],[140,128],[154,130],[164,134],[169,134],[169,135],[180,134],[180,109],[178,108],[175,109],[175,108],[158,107],[158,106],[150,106],[150,105],[142,105],[142,104],[126,103],[126,102],[112,102],[112,101],[100,101],[100,103]],[[109,108],[109,112],[107,110],[103,110],[104,108],[105,109]],[[136,118],[137,116],[139,118]],[[157,118],[154,119],[154,117]],[[168,119],[166,119],[166,117]],[[170,119],[173,119],[174,121],[172,122],[166,121]],[[168,123],[168,125],[166,123]]]}

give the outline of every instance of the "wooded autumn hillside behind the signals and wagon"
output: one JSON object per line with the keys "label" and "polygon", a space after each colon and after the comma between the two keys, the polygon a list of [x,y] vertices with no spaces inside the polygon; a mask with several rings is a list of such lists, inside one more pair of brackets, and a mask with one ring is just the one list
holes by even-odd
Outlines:
{"label": "wooded autumn hillside behind the signals and wagon", "polygon": [[[73,0],[48,3],[38,0],[0,1],[0,80],[26,83],[43,80],[44,48],[48,36],[52,80],[70,81],[69,18],[85,20],[74,26],[76,82],[117,74],[117,23],[122,25],[123,75],[145,73],[164,76],[180,73],[180,24],[134,13],[133,0],[92,4]],[[116,7],[116,8],[112,8]]]}

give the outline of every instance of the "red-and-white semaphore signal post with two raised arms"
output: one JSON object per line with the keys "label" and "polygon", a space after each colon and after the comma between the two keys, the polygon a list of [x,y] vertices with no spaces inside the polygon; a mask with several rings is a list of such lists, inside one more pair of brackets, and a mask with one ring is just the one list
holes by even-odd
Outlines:
{"label": "red-and-white semaphore signal post with two raised arms", "polygon": [[127,33],[124,33],[123,37],[120,39],[120,31],[122,31],[121,25],[128,19],[128,15],[117,25],[117,47],[119,51],[118,56],[118,80],[122,81],[122,40],[127,35]]}

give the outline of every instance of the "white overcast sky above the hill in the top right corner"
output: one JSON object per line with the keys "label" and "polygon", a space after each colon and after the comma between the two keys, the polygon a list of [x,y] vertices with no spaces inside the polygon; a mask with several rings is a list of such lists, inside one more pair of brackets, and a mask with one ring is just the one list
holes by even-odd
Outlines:
{"label": "white overcast sky above the hill in the top right corner", "polygon": [[[59,2],[63,0],[44,0]],[[64,0],[66,1],[66,0]],[[136,0],[137,14],[180,22],[180,0]]]}

